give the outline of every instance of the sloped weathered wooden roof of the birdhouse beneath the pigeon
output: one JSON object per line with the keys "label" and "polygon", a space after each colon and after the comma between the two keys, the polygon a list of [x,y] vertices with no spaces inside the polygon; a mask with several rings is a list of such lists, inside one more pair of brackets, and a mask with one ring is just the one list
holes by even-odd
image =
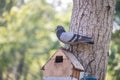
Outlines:
{"label": "sloped weathered wooden roof of the birdhouse beneath the pigeon", "polygon": [[[67,50],[64,50],[62,48],[58,49],[55,54],[57,54],[58,52],[62,52],[63,54],[65,54],[65,56],[70,60],[71,64],[74,66],[74,68],[76,68],[78,70],[81,70],[81,71],[84,71],[84,68],[83,68],[82,64],[78,61],[78,59],[71,52],[69,52]],[[51,60],[51,58],[47,61],[47,63]],[[44,70],[44,66],[41,68],[42,70]]]}

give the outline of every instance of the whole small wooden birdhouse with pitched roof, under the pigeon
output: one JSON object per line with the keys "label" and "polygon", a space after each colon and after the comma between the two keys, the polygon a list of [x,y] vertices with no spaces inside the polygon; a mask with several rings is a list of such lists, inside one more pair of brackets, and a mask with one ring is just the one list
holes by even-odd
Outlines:
{"label": "whole small wooden birdhouse with pitched roof, under the pigeon", "polygon": [[79,80],[84,68],[72,53],[58,49],[42,70],[43,80]]}

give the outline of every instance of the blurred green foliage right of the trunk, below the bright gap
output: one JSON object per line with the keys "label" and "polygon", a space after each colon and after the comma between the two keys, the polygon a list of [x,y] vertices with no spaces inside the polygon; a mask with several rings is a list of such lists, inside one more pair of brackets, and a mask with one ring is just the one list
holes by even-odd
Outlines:
{"label": "blurred green foliage right of the trunk, below the bright gap", "polygon": [[111,80],[120,79],[120,30],[112,34],[108,72],[112,76]]}

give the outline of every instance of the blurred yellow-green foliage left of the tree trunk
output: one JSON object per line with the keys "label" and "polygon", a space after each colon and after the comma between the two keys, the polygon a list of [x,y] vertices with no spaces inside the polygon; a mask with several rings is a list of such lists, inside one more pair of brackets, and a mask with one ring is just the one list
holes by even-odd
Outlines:
{"label": "blurred yellow-green foliage left of the tree trunk", "polygon": [[55,26],[68,26],[69,17],[60,18],[63,14],[44,0],[13,6],[2,15],[6,25],[0,27],[0,79],[42,80],[41,66],[60,47]]}

